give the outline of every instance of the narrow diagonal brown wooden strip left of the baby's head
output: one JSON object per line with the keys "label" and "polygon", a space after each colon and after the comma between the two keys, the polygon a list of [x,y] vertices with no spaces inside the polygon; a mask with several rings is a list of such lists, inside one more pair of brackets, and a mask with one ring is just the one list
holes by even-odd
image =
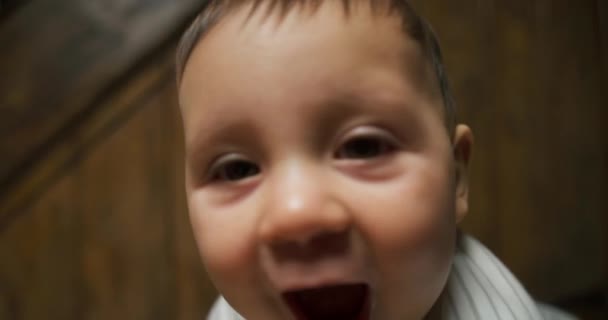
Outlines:
{"label": "narrow diagonal brown wooden strip left of the baby's head", "polygon": [[[20,179],[13,182],[10,189],[0,192],[0,231],[22,213],[23,206],[64,174],[95,143],[104,139],[107,132],[112,132],[128,119],[141,104],[138,101],[141,97],[166,85],[173,75],[172,57],[172,51],[167,50],[151,56],[146,68],[123,79],[122,87],[91,105],[87,115],[70,123],[59,135],[61,139],[48,145],[49,150],[44,156],[35,158],[37,161],[21,173]],[[20,140],[27,144],[28,138],[17,136],[14,143],[18,144]]]}

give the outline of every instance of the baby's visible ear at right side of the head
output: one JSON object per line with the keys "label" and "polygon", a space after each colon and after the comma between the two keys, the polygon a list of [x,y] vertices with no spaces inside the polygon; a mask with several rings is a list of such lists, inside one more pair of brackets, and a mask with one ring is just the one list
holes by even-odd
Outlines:
{"label": "baby's visible ear at right side of the head", "polygon": [[469,211],[469,161],[473,152],[473,132],[468,126],[459,124],[452,141],[456,171],[456,222],[459,223]]}

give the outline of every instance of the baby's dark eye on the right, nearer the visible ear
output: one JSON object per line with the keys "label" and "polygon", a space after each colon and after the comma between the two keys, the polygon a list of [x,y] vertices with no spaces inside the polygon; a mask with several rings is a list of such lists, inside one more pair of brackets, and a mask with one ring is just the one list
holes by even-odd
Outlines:
{"label": "baby's dark eye on the right, nearer the visible ear", "polygon": [[354,137],[346,141],[336,152],[339,159],[370,159],[395,150],[388,139],[376,136]]}

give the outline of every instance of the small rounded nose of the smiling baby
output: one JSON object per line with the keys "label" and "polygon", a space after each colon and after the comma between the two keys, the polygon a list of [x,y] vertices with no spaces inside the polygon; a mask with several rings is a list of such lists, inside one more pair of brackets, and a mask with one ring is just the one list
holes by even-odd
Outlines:
{"label": "small rounded nose of the smiling baby", "polygon": [[291,168],[282,177],[266,190],[266,206],[259,225],[262,242],[332,246],[336,235],[348,232],[351,215],[333,192],[331,181],[316,170],[299,167]]}

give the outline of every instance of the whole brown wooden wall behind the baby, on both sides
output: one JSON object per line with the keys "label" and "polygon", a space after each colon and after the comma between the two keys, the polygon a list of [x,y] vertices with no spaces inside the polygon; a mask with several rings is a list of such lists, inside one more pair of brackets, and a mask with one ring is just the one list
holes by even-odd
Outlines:
{"label": "whole brown wooden wall behind the baby, on both sides", "polygon": [[[209,307],[172,66],[195,2],[91,1],[108,6],[91,16],[30,0],[0,15],[0,319],[200,319]],[[536,297],[605,319],[608,5],[413,2],[476,133],[464,228]],[[569,303],[589,294],[591,311]]]}

